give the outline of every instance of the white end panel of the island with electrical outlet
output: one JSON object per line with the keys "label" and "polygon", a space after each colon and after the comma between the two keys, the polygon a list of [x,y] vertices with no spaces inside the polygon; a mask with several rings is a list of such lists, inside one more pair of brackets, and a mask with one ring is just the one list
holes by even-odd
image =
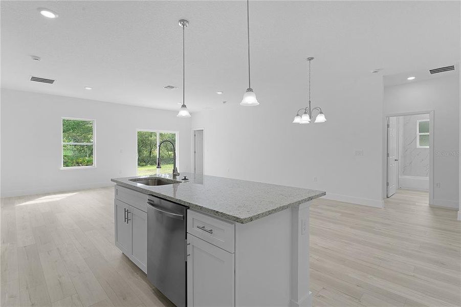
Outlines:
{"label": "white end panel of the island with electrical outlet", "polygon": [[311,306],[309,203],[235,224],[235,306],[264,305]]}

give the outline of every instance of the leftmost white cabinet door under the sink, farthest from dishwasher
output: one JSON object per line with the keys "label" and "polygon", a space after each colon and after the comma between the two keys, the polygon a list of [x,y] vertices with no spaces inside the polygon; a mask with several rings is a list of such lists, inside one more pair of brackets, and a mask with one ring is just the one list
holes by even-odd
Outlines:
{"label": "leftmost white cabinet door under the sink, farthest from dishwasher", "polygon": [[128,257],[131,255],[131,225],[127,222],[129,205],[115,200],[115,245]]}

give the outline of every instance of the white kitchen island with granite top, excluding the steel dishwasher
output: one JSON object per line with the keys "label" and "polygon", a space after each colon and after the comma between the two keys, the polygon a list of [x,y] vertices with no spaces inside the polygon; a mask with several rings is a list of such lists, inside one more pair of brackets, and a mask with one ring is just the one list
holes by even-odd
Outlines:
{"label": "white kitchen island with granite top, excluding the steel dishwasher", "polygon": [[187,207],[188,306],[311,305],[309,202],[325,192],[192,173],[147,179],[112,179],[115,242],[149,272],[148,199]]}

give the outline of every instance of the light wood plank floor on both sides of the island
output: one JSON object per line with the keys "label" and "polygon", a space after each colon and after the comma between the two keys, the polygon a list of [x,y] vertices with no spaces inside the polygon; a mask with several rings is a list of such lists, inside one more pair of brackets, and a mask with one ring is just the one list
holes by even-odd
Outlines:
{"label": "light wood plank floor on both sides of the island", "polygon": [[[311,207],[314,306],[460,306],[461,223],[399,190]],[[2,199],[2,306],[172,305],[114,246],[113,188]]]}

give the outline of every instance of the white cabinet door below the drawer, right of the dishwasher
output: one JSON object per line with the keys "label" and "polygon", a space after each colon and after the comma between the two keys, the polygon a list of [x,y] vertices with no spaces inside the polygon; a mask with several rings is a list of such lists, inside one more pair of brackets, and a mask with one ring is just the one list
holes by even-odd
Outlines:
{"label": "white cabinet door below the drawer, right of the dishwasher", "polygon": [[234,254],[187,234],[187,306],[234,305]]}

